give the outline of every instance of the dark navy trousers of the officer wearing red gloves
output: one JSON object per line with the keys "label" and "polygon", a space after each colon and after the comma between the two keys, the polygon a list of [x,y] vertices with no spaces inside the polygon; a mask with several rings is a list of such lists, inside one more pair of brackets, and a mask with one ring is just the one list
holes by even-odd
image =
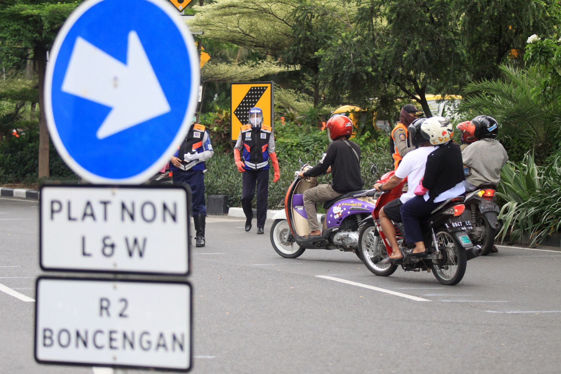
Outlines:
{"label": "dark navy trousers of the officer wearing red gloves", "polygon": [[257,184],[257,228],[263,228],[267,219],[269,169],[246,170],[242,173],[242,182],[242,208],[246,218],[253,217],[251,201],[255,196],[255,184]]}

